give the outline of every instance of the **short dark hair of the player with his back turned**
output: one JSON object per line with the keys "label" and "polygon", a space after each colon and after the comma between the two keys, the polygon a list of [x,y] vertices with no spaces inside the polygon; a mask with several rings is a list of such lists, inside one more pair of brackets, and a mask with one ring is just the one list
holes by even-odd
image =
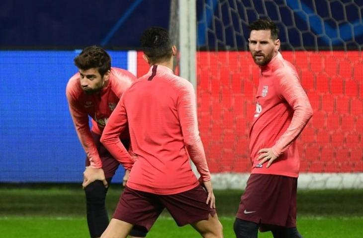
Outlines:
{"label": "short dark hair of the player with his back turned", "polygon": [[172,41],[166,29],[150,27],[144,31],[140,38],[144,54],[151,64],[169,60],[173,55]]}

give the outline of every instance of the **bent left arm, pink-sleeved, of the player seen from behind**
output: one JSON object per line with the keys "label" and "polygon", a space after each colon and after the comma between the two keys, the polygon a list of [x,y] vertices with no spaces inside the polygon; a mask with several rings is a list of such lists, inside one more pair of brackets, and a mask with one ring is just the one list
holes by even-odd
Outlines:
{"label": "bent left arm, pink-sleeved, of the player seen from behind", "polygon": [[126,170],[131,170],[134,160],[131,158],[130,154],[127,152],[127,149],[121,143],[119,138],[120,134],[127,127],[124,95],[121,97],[115,110],[113,110],[111,116],[109,117],[107,124],[103,129],[100,141]]}

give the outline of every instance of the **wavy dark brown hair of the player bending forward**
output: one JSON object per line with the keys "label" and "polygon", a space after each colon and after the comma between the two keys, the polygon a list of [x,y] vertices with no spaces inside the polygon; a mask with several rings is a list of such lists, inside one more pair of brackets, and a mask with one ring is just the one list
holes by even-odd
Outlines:
{"label": "wavy dark brown hair of the player bending forward", "polygon": [[103,75],[111,69],[111,58],[102,48],[89,46],[75,58],[75,64],[82,70],[97,68],[99,74],[103,77]]}

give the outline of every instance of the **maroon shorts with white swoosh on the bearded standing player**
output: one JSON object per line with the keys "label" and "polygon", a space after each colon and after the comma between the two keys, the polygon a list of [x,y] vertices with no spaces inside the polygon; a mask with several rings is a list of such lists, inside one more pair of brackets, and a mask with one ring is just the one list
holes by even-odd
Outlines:
{"label": "maroon shorts with white swoosh on the bearded standing player", "polygon": [[296,190],[297,178],[252,174],[236,217],[260,224],[260,231],[296,227]]}

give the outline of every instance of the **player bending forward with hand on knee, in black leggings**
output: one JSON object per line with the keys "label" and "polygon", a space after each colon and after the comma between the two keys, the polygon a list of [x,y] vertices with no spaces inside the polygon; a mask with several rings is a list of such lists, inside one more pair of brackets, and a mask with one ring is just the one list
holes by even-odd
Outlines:
{"label": "player bending forward with hand on knee, in black leggings", "polygon": [[[111,67],[109,55],[99,47],[87,47],[74,61],[79,72],[69,80],[66,95],[78,137],[87,154],[82,185],[86,193],[90,235],[96,238],[101,236],[108,225],[105,197],[108,184],[119,165],[99,139],[121,95],[136,77],[126,70]],[[127,130],[120,138],[124,146],[129,148],[130,136]],[[128,173],[124,179],[126,177]],[[146,230],[137,230],[135,227],[130,234],[145,237]]]}

